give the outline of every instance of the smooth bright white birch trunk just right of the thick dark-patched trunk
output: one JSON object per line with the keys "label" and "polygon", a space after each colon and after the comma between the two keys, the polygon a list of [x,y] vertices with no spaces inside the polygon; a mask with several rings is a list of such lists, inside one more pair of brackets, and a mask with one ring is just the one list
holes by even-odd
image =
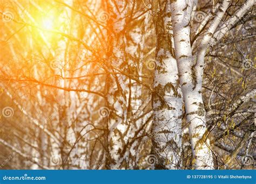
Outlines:
{"label": "smooth bright white birch trunk just right of the thick dark-patched trunk", "polygon": [[196,88],[199,81],[193,71],[190,17],[188,17],[187,7],[185,0],[171,3],[175,54],[194,157],[192,164],[196,169],[213,169],[210,141],[205,136],[207,128],[203,98],[201,89]]}

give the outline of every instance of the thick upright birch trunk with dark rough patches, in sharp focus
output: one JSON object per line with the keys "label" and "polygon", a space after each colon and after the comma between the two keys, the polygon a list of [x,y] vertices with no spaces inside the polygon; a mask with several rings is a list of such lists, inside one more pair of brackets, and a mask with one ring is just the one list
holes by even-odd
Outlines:
{"label": "thick upright birch trunk with dark rough patches, in sharp focus", "polygon": [[[164,4],[165,3],[165,4]],[[157,34],[154,73],[152,153],[157,156],[156,169],[179,169],[181,165],[182,99],[177,62],[173,55],[171,4],[158,8],[152,3]]]}

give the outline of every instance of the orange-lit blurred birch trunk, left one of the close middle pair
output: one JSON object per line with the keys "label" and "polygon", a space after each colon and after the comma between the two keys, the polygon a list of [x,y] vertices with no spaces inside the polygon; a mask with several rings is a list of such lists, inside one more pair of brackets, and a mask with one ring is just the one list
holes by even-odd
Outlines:
{"label": "orange-lit blurred birch trunk, left one of the close middle pair", "polygon": [[[111,37],[113,38],[113,55],[117,58],[117,61],[113,65],[120,67],[125,57],[123,47],[126,40],[122,31],[125,26],[127,9],[125,8],[125,3],[118,1],[110,2],[110,6],[113,9],[110,12],[110,16],[113,17],[112,28],[115,33],[111,33]],[[117,75],[111,78],[113,83],[111,84],[107,101],[113,110],[110,112],[108,122],[108,149],[110,157],[106,159],[106,167],[107,169],[124,169],[127,167],[124,157],[124,146],[127,143],[127,137],[124,137],[124,133],[128,128],[126,98],[129,98],[125,88],[129,84],[129,81],[123,75]]]}

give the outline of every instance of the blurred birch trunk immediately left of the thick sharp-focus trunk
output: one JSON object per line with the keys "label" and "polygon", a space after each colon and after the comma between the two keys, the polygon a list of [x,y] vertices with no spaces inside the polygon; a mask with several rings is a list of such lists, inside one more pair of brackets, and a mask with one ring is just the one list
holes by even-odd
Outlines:
{"label": "blurred birch trunk immediately left of the thick sharp-focus trunk", "polygon": [[[132,4],[129,4],[132,6]],[[135,6],[136,9],[140,9],[142,3],[137,3]],[[132,9],[132,7],[130,7]],[[142,22],[138,26],[134,27],[130,33],[130,39],[127,41],[127,52],[130,55],[130,62],[132,63],[131,67],[134,67],[132,70],[133,75],[143,76],[143,70],[145,70],[145,65],[142,62],[146,56],[144,55],[144,49],[147,41],[147,30],[150,29],[149,24],[150,15],[149,13],[145,14],[145,17],[138,18],[138,22]],[[150,33],[149,33],[150,34]],[[137,77],[136,79],[142,82],[147,82],[143,77]],[[141,158],[140,155],[143,152],[142,147],[145,142],[142,139],[136,139],[145,133],[144,131],[149,127],[151,123],[152,111],[146,111],[146,107],[150,106],[151,96],[145,95],[149,93],[149,89],[144,87],[141,83],[130,79],[131,88],[130,88],[130,114],[128,116],[129,131],[127,132],[127,137],[129,137],[129,146],[126,147],[125,158],[127,160],[129,169],[138,169],[138,162]],[[150,122],[149,122],[150,119]],[[140,131],[139,131],[140,130]]]}

